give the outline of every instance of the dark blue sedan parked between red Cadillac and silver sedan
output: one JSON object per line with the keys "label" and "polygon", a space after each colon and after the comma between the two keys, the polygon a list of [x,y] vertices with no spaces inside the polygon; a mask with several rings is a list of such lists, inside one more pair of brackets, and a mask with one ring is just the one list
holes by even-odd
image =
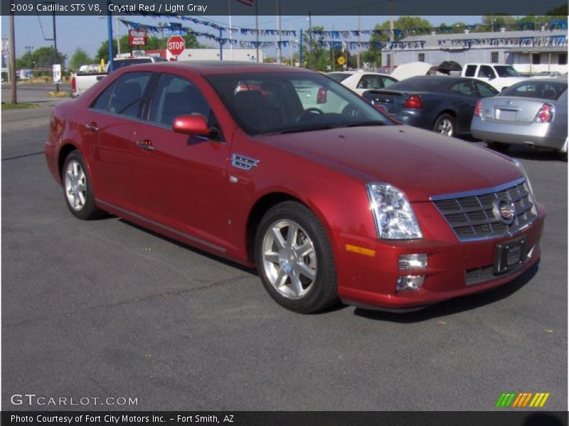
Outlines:
{"label": "dark blue sedan parked between red Cadillac and silver sedan", "polygon": [[425,75],[368,90],[363,97],[405,124],[456,136],[470,133],[478,99],[496,94],[494,87],[472,78]]}

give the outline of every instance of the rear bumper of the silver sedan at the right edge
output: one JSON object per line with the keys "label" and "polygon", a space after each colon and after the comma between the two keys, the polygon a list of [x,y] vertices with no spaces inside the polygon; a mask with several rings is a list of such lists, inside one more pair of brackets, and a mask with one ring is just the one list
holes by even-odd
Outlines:
{"label": "rear bumper of the silver sedan at the right edge", "polygon": [[531,145],[538,148],[561,149],[566,136],[556,137],[551,134],[551,124],[531,123],[514,124],[472,118],[470,127],[474,138],[489,142],[511,143],[513,145]]}

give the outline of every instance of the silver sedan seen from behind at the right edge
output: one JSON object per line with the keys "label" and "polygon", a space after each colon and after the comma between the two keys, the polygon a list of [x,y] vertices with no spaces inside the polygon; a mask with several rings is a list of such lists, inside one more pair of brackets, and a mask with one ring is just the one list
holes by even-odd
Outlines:
{"label": "silver sedan seen from behind at the right edge", "polygon": [[526,145],[567,158],[567,79],[526,80],[480,99],[470,129],[496,151]]}

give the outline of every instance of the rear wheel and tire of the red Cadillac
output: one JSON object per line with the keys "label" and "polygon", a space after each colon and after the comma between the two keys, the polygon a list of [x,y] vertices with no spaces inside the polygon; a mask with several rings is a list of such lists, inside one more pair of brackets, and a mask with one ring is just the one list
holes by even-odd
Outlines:
{"label": "rear wheel and tire of the red Cadillac", "polygon": [[71,151],[65,158],[61,181],[65,202],[73,216],[82,220],[90,220],[102,215],[102,210],[95,205],[91,180],[87,173],[85,160],[79,151]]}

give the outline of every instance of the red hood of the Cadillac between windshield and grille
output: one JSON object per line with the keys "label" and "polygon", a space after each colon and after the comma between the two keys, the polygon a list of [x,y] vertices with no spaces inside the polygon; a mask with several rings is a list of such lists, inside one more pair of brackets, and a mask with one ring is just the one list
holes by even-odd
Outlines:
{"label": "red hood of the Cadillac between windshield and grille", "polygon": [[415,202],[522,177],[501,155],[411,126],[329,129],[259,136],[257,140],[363,182],[388,182]]}

